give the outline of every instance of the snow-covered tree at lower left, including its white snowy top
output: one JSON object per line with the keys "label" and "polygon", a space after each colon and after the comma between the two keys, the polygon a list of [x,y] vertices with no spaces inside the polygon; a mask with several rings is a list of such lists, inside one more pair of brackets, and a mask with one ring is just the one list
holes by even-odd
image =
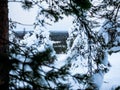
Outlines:
{"label": "snow-covered tree at lower left, including its white snowy top", "polygon": [[[19,39],[11,32],[10,36],[10,90],[47,89],[44,84],[46,71],[56,59],[55,51],[49,40],[48,32],[35,30],[24,39]],[[29,42],[29,43],[28,43]]]}

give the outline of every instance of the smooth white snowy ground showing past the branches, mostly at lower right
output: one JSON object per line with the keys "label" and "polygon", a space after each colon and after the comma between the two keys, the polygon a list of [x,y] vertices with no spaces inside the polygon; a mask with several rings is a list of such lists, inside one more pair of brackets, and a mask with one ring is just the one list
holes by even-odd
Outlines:
{"label": "smooth white snowy ground showing past the branches, mostly at lower right", "polygon": [[[65,54],[58,55],[58,59],[64,60]],[[120,53],[109,56],[109,61],[112,65],[110,71],[105,74],[104,82],[101,90],[114,90],[115,87],[120,86]],[[59,63],[60,65],[60,63]],[[61,65],[60,65],[61,66]]]}

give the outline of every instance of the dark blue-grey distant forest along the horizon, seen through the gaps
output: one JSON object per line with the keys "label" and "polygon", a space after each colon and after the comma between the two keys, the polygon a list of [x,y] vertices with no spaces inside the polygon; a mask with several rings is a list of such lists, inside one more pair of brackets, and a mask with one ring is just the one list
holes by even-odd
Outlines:
{"label": "dark blue-grey distant forest along the horizon, seen through the gaps", "polygon": [[[28,32],[32,34],[33,31],[15,31],[14,33],[17,37],[23,39],[25,34]],[[67,37],[68,37],[67,31],[50,31],[50,39],[53,41],[53,47],[57,54],[66,52]]]}

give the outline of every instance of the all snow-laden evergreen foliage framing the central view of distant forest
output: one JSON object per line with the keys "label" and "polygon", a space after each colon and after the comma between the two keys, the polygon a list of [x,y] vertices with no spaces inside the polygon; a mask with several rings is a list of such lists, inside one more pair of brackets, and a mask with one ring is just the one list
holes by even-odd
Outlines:
{"label": "all snow-laden evergreen foliage framing the central view of distant forest", "polygon": [[[43,7],[44,3],[46,7]],[[73,28],[67,40],[69,47],[66,62],[59,68],[54,66],[54,50],[47,43],[44,31],[33,33],[36,40],[31,45],[21,43],[21,40],[12,36],[10,89],[98,90],[104,74],[110,68],[108,53],[120,51],[113,49],[120,45],[119,3],[119,0],[102,0],[94,6],[89,0],[25,0],[25,9],[32,5],[39,6],[35,26],[43,27],[48,24],[46,20],[57,22],[63,15],[70,15],[74,17]],[[109,10],[110,6],[112,9]],[[41,18],[42,15],[45,17]],[[96,30],[100,27],[100,22],[93,20],[96,17],[105,19],[100,30]],[[42,46],[44,50],[41,51]],[[79,72],[73,73],[77,69]],[[100,83],[96,83],[96,80]]]}

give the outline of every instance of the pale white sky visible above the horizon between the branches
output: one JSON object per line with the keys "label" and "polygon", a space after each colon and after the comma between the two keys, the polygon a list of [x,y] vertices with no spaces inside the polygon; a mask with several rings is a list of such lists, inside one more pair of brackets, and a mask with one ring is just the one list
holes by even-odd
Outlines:
{"label": "pale white sky visible above the horizon between the branches", "polygon": [[[35,17],[37,15],[37,7],[32,9],[24,10],[21,7],[20,3],[9,3],[9,18],[13,21],[18,21],[24,24],[33,24],[35,21]],[[63,20],[60,20],[58,23],[53,24],[52,26],[48,26],[49,30],[69,30],[72,25],[72,19],[66,17]],[[16,30],[23,30],[23,26],[17,25]],[[27,26],[26,30],[33,30],[33,27]]]}

